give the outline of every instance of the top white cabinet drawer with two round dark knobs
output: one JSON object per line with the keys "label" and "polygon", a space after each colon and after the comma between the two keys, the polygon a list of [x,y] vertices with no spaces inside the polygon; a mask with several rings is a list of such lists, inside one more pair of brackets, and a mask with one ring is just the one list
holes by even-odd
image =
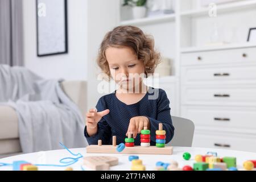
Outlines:
{"label": "top white cabinet drawer with two round dark knobs", "polygon": [[256,47],[181,54],[181,65],[256,63]]}

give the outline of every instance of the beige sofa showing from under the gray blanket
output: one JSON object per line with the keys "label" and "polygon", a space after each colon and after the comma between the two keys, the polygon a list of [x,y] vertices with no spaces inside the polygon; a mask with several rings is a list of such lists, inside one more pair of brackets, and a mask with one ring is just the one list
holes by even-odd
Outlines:
{"label": "beige sofa showing from under the gray blanket", "polygon": [[[63,81],[61,87],[81,110],[86,112],[86,82]],[[18,116],[9,106],[0,106],[0,158],[22,153],[19,143]]]}

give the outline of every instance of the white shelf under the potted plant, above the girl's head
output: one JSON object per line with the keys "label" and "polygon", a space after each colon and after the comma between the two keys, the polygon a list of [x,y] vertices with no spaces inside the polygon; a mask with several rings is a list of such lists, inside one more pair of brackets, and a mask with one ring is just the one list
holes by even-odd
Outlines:
{"label": "white shelf under the potted plant, above the girl's head", "polygon": [[156,15],[147,18],[125,20],[121,22],[121,25],[141,25],[141,24],[152,24],[159,22],[171,22],[175,20],[175,14],[170,15]]}

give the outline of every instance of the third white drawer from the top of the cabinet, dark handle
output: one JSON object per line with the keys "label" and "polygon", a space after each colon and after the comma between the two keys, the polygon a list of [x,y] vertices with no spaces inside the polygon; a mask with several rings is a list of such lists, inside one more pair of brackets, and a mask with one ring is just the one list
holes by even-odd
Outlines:
{"label": "third white drawer from the top of the cabinet, dark handle", "polygon": [[255,86],[237,85],[226,88],[183,86],[181,93],[182,104],[256,106]]}

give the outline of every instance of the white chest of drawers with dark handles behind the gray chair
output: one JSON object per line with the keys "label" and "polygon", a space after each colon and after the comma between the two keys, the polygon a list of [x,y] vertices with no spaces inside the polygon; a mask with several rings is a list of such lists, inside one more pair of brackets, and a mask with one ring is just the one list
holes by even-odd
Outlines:
{"label": "white chest of drawers with dark handles behind the gray chair", "polygon": [[256,47],[181,53],[181,117],[193,146],[256,152]]}

